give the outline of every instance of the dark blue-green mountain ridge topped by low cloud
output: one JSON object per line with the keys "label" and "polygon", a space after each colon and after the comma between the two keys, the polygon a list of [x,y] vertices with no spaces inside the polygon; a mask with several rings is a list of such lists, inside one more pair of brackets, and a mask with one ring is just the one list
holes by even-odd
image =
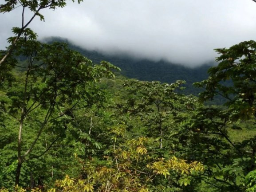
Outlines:
{"label": "dark blue-green mountain ridge topped by low cloud", "polygon": [[50,37],[43,40],[46,43],[51,42],[65,42],[69,44],[71,49],[79,51],[81,54],[99,63],[102,60],[108,61],[113,65],[121,68],[121,74],[128,78],[136,78],[142,81],[160,81],[172,83],[176,80],[185,80],[186,94],[198,94],[200,89],[193,87],[193,82],[199,82],[208,78],[207,71],[214,63],[207,63],[200,67],[189,68],[183,65],[170,63],[164,60],[158,62],[150,61],[147,59],[133,59],[126,55],[104,55],[98,51],[89,51],[76,46],[68,41],[59,37]]}

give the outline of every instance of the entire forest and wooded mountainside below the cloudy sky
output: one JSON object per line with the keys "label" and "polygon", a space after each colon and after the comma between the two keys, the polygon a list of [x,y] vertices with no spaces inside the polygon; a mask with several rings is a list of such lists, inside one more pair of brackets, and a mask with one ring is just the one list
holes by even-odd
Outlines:
{"label": "entire forest and wooded mountainside below the cloudy sky", "polygon": [[255,41],[190,69],[43,43],[30,22],[0,51],[0,192],[256,191]]}

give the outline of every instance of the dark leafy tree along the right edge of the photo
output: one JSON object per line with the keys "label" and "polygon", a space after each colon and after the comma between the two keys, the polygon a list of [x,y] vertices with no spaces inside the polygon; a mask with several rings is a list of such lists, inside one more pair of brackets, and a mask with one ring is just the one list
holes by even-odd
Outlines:
{"label": "dark leafy tree along the right edge of the photo", "polygon": [[[216,95],[221,95],[226,99],[224,103],[226,107],[201,110],[201,113],[196,116],[199,119],[194,119],[194,123],[191,125],[194,126],[193,130],[197,129],[199,132],[196,133],[197,138],[205,133],[215,134],[215,137],[219,135],[220,138],[224,138],[229,145],[225,146],[224,143],[219,143],[218,146],[222,145],[222,149],[218,149],[218,151],[221,153],[222,150],[226,150],[226,152],[219,157],[217,155],[217,159],[221,162],[215,160],[217,164],[215,168],[209,167],[208,174],[223,176],[224,180],[217,179],[224,184],[225,191],[245,191],[243,177],[248,174],[245,177],[245,184],[250,187],[247,191],[250,191],[253,190],[254,185],[253,176],[255,173],[251,171],[255,169],[255,137],[231,141],[228,136],[228,129],[242,129],[239,124],[244,123],[255,128],[256,42],[253,40],[245,41],[230,48],[216,49],[216,51],[221,54],[217,57],[217,61],[220,63],[209,69],[208,79],[197,82],[195,85],[205,89],[199,95],[202,102],[213,99]],[[236,122],[236,125],[232,122]],[[199,143],[200,140],[197,139],[197,145]],[[209,139],[206,143],[210,143]],[[205,145],[205,142],[203,141],[202,144]],[[211,145],[216,146],[215,144]],[[214,150],[211,151],[211,153],[214,152]],[[208,165],[207,161],[202,160],[202,162]]]}

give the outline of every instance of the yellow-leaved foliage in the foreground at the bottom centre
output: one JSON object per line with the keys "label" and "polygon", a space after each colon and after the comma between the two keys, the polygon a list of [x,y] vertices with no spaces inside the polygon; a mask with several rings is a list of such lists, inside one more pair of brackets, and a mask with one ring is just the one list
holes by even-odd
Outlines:
{"label": "yellow-leaved foliage in the foreground at the bottom centre", "polygon": [[[110,134],[115,134],[115,130],[110,131]],[[117,133],[118,134],[118,133]],[[119,135],[119,134],[118,134]],[[124,140],[125,135],[122,136]],[[159,176],[170,176],[170,172],[178,172],[176,175],[181,175],[186,178],[192,172],[201,172],[203,166],[199,162],[191,162],[190,164],[184,160],[172,157],[169,160],[163,158],[155,160],[147,153],[146,137],[138,139],[122,140],[121,143],[113,145],[112,149],[105,152],[104,165],[97,162],[97,159],[90,161],[82,160],[81,164],[83,178],[73,179],[66,176],[63,180],[57,180],[55,187],[48,190],[53,192],[60,191],[138,191],[146,192],[150,190],[147,184],[152,183]],[[98,165],[97,165],[98,164]],[[181,185],[187,185],[181,180]],[[39,191],[35,188],[32,191]],[[1,192],[6,192],[3,189]]]}

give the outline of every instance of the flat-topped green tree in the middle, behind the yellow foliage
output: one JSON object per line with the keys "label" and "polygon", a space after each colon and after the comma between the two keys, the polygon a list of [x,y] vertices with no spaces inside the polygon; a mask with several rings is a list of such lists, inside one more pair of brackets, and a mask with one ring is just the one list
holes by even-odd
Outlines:
{"label": "flat-topped green tree in the middle, behind the yellow foliage", "polygon": [[192,95],[177,93],[184,83],[185,81],[167,84],[128,80],[124,84],[127,90],[135,94],[127,101],[131,114],[141,116],[144,125],[148,128],[148,134],[159,138],[159,149],[163,148],[163,138],[168,136],[172,129],[170,121],[173,114],[177,111],[192,110],[197,103],[197,99]]}

